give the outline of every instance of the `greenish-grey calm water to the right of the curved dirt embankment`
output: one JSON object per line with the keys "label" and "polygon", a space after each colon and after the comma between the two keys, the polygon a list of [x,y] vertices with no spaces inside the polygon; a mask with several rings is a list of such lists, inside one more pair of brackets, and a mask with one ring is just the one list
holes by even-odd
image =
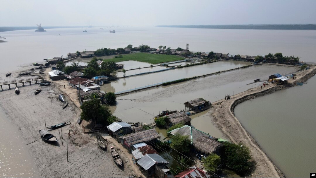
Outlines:
{"label": "greenish-grey calm water to the right of the curved dirt embankment", "polygon": [[316,172],[316,77],[245,101],[234,113],[260,147],[287,177]]}

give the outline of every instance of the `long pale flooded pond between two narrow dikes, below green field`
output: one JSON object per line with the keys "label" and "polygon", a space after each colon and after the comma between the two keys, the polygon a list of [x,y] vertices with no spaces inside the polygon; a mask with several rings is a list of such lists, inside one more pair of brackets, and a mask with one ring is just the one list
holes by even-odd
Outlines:
{"label": "long pale flooded pond between two narrow dikes, below green field", "polygon": [[250,62],[241,61],[219,61],[215,63],[208,63],[203,65],[196,65],[191,67],[184,67],[181,69],[174,69],[164,72],[152,73],[142,76],[121,78],[111,83],[106,83],[101,86],[101,90],[107,92],[120,92],[129,89],[144,87],[156,83],[168,82],[182,78],[200,76],[210,74],[213,72],[234,69],[251,64]]}

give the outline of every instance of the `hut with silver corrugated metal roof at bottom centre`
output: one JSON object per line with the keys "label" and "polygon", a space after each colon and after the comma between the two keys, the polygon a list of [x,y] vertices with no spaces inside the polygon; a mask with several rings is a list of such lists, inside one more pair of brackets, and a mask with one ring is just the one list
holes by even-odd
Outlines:
{"label": "hut with silver corrugated metal roof at bottom centre", "polygon": [[164,167],[160,168],[159,166],[164,166],[168,163],[169,162],[158,154],[147,154],[137,161],[139,168],[146,177],[152,177],[155,175],[156,169],[161,169],[162,171]]}

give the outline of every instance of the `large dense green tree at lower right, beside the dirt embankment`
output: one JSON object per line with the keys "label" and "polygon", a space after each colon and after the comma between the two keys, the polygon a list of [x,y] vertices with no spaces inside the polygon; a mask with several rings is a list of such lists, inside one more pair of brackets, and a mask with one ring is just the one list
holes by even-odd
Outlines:
{"label": "large dense green tree at lower right, beside the dirt embankment", "polygon": [[250,156],[250,150],[247,146],[240,144],[234,144],[230,142],[224,142],[224,155],[226,166],[239,173],[248,172],[252,166],[252,157]]}

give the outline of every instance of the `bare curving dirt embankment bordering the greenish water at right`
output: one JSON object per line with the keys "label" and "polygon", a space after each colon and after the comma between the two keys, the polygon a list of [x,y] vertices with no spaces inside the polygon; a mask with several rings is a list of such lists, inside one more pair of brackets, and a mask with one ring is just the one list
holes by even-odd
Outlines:
{"label": "bare curving dirt embankment bordering the greenish water at right", "polygon": [[316,73],[316,66],[312,66],[311,69],[300,71],[296,76],[296,79],[292,79],[286,86],[269,84],[261,89],[258,86],[253,89],[248,89],[245,92],[234,95],[230,100],[220,100],[213,104],[212,118],[217,127],[219,127],[225,137],[229,138],[234,143],[240,143],[247,145],[251,150],[253,160],[256,161],[257,167],[255,171],[250,175],[251,177],[284,177],[280,169],[270,160],[270,158],[260,148],[256,140],[244,129],[239,120],[234,116],[234,108],[237,104],[258,97],[263,96],[287,87],[295,86],[297,82],[305,82],[310,77],[313,77]]}

